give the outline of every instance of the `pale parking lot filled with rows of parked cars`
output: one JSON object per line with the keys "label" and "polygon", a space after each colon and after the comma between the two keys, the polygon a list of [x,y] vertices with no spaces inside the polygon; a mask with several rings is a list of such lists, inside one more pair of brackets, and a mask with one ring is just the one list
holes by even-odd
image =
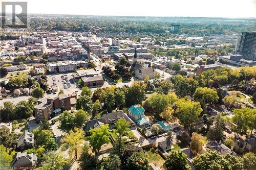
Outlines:
{"label": "pale parking lot filled with rows of parked cars", "polygon": [[59,90],[66,91],[79,91],[79,88],[76,86],[74,79],[72,77],[72,72],[63,73],[63,74],[51,74],[47,76],[48,84],[51,88],[52,86],[57,86]]}

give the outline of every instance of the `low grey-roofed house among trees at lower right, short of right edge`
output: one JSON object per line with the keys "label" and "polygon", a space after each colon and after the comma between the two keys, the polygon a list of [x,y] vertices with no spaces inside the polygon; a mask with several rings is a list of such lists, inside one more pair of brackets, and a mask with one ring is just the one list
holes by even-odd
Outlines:
{"label": "low grey-roofed house among trees at lower right, short of right edge", "polygon": [[219,143],[217,141],[208,141],[206,143],[206,147],[211,150],[215,150],[215,151],[219,152],[221,155],[226,155],[226,154],[237,155],[235,152],[233,152],[233,147],[231,147],[231,149],[229,149],[221,141]]}

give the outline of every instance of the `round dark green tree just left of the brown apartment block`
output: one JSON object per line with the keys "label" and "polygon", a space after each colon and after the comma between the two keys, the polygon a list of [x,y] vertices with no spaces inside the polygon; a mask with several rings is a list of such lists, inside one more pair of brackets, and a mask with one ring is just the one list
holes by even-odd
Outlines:
{"label": "round dark green tree just left of the brown apartment block", "polygon": [[27,101],[20,101],[16,105],[16,114],[18,117],[29,118],[33,114],[34,107]]}

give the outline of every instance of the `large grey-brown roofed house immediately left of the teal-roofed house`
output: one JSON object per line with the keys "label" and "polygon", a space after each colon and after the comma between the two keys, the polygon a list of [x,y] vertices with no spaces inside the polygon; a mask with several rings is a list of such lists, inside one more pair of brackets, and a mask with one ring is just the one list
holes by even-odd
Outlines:
{"label": "large grey-brown roofed house immediately left of the teal-roofed house", "polygon": [[113,129],[115,127],[115,123],[117,122],[118,119],[123,118],[127,122],[130,123],[131,127],[135,126],[135,123],[131,118],[127,116],[122,110],[117,111],[117,112],[112,112],[112,113],[106,113],[102,115],[103,118],[103,123],[104,124],[109,124],[110,128]]}

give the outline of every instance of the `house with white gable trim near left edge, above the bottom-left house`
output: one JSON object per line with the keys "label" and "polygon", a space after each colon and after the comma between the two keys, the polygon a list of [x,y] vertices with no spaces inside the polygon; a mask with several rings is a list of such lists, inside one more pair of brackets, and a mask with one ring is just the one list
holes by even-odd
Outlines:
{"label": "house with white gable trim near left edge, above the bottom-left house", "polygon": [[25,131],[21,136],[18,137],[17,148],[19,151],[25,151],[33,147],[34,134]]}

